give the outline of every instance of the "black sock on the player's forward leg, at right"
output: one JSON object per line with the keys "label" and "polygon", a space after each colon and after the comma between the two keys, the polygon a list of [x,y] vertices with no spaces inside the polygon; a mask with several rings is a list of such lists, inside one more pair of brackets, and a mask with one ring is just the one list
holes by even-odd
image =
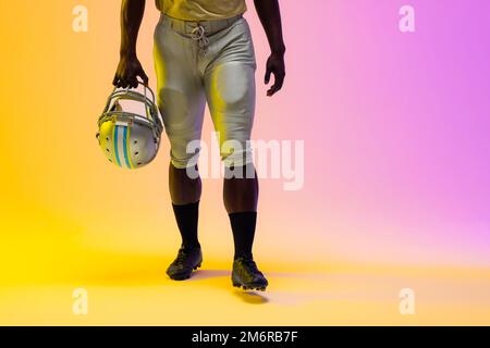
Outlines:
{"label": "black sock on the player's forward leg, at right", "polygon": [[240,257],[252,258],[257,212],[247,211],[229,215],[235,244],[235,260]]}

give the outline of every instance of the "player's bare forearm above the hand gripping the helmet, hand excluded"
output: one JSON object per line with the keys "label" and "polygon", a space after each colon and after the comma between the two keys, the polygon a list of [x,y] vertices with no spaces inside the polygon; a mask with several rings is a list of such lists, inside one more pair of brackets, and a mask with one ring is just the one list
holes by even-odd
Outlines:
{"label": "player's bare forearm above the hand gripping the helmet, hand excluded", "polygon": [[121,57],[136,57],[136,41],[146,0],[123,0],[121,7]]}

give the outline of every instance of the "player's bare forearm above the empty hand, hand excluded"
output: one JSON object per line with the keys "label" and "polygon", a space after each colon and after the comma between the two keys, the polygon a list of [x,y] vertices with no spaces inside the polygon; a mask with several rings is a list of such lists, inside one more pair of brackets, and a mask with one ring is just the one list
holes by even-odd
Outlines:
{"label": "player's bare forearm above the empty hand, hand excluded", "polygon": [[257,14],[266,30],[270,49],[273,53],[284,53],[282,37],[281,11],[278,0],[254,0]]}

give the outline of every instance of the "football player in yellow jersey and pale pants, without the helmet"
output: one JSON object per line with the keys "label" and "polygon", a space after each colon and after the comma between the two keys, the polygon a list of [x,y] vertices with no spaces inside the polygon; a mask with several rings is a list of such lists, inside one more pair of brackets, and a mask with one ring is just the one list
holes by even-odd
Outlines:
{"label": "football player in yellow jersey and pale pants, without the helmet", "polygon": [[[136,54],[136,40],[145,0],[123,0],[120,62],[117,87],[148,83]],[[245,0],[156,0],[161,12],[155,29],[154,58],[157,103],[171,144],[169,186],[182,245],[167,270],[172,279],[186,279],[201,265],[197,235],[201,195],[199,177],[189,177],[197,153],[189,141],[200,139],[206,103],[219,136],[225,166],[223,200],[234,238],[232,283],[264,290],[268,281],[253,258],[257,221],[258,179],[249,146],[256,102],[256,57],[253,37],[243,14]],[[278,0],[255,0],[266,32],[270,57],[265,84],[274,76],[267,95],[275,95],[285,77],[285,46]],[[233,141],[230,141],[233,140]],[[224,146],[229,144],[233,146]],[[250,175],[252,173],[252,175]]]}

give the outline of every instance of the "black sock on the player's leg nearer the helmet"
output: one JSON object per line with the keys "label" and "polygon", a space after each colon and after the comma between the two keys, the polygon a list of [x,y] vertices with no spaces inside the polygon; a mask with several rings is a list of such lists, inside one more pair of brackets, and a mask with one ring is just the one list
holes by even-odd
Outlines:
{"label": "black sock on the player's leg nearer the helmet", "polygon": [[185,249],[200,247],[197,239],[197,221],[199,217],[199,202],[176,206],[172,204],[173,213],[182,236],[182,246]]}

